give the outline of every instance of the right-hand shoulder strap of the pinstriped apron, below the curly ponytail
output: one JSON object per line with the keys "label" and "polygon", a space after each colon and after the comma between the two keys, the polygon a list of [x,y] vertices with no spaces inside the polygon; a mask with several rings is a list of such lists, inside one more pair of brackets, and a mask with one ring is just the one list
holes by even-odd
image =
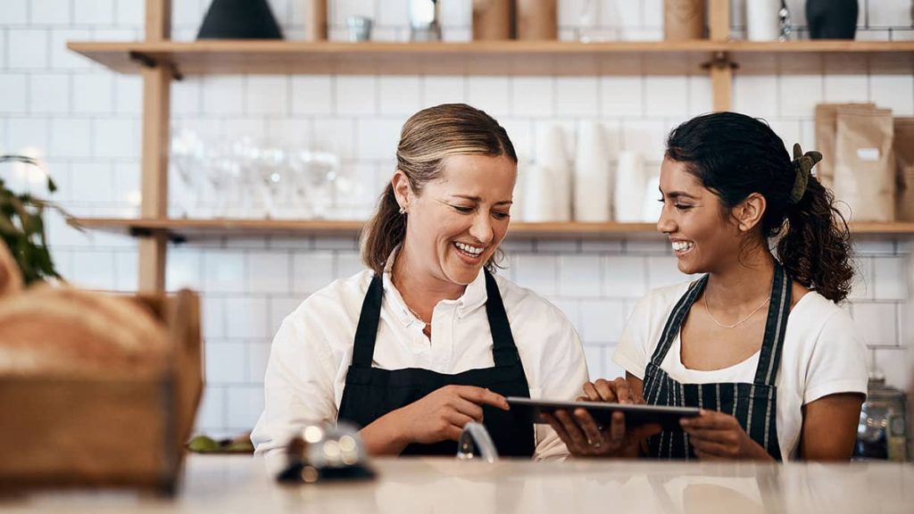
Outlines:
{"label": "right-hand shoulder strap of the pinstriped apron, below the curly ponytail", "polygon": [[792,280],[780,262],[774,262],[774,279],[771,282],[771,304],[768,305],[768,320],[765,322],[765,337],[761,342],[759,368],[755,371],[755,383],[774,385],[781,366],[781,350],[784,333],[787,332],[787,316],[791,313]]}

